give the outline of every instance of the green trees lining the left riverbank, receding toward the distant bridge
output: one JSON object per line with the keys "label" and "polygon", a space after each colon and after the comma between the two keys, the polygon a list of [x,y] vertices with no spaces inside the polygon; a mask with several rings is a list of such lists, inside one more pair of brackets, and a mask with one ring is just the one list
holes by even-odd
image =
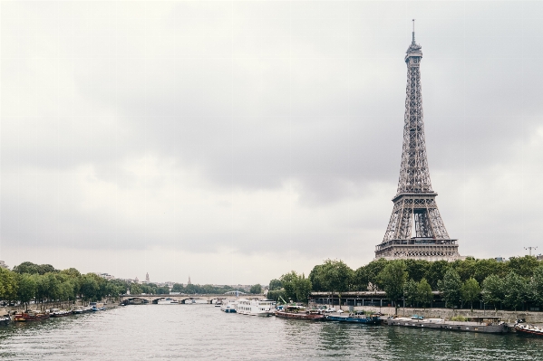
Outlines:
{"label": "green trees lining the left riverbank, receding toward the distant bridge", "polygon": [[[138,294],[184,294],[225,293],[238,290],[230,286],[214,286],[174,283],[168,285],[155,283],[134,283],[129,280],[106,280],[96,273],[82,274],[74,268],[56,270],[51,264],[35,264],[25,261],[13,271],[0,268],[0,304],[12,309],[49,309],[51,307],[72,307],[91,301],[109,299],[118,301],[119,297],[130,291]],[[261,290],[255,285],[251,291]],[[259,293],[259,292],[258,292]]]}

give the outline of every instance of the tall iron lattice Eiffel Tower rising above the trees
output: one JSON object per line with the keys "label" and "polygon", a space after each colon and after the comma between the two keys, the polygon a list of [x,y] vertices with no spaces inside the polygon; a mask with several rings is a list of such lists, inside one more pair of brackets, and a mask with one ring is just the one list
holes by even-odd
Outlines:
{"label": "tall iron lattice Eiffel Tower rising above the trees", "polygon": [[375,247],[375,259],[461,259],[457,240],[449,237],[441,220],[435,202],[438,194],[431,189],[422,121],[421,59],[422,47],[415,43],[413,19],[412,43],[405,55],[407,95],[400,180],[383,242]]}

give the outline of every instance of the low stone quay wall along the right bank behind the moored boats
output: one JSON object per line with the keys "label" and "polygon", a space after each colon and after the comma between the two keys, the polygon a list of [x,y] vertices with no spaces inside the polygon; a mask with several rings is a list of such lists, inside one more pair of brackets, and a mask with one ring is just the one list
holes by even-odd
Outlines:
{"label": "low stone quay wall along the right bank behind the moored boats", "polygon": [[[332,307],[332,306],[330,306]],[[338,308],[337,305],[334,306],[335,309]],[[342,306],[344,311],[349,310],[349,306]],[[354,306],[355,311],[361,310],[371,310],[379,312],[379,307],[374,306]],[[391,316],[394,314],[393,307],[382,307],[381,312],[385,315]],[[481,316],[498,316],[503,321],[508,323],[515,322],[516,319],[522,318],[526,319],[528,323],[543,323],[543,312],[535,311],[494,311],[494,309],[474,309],[471,312],[470,309],[422,309],[422,308],[405,308],[405,313],[403,308],[398,309],[399,316],[411,317],[412,315],[422,315],[424,318],[452,318],[454,316],[463,316],[463,317],[481,317]]]}

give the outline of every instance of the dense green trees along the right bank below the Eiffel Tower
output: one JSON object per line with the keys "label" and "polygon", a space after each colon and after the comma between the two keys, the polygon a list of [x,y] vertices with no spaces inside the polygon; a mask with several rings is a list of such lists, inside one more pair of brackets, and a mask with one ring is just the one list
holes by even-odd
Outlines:
{"label": "dense green trees along the right bank below the Eiffel Tower", "polygon": [[543,309],[543,262],[534,256],[509,261],[380,259],[353,270],[344,261],[326,260],[308,277],[291,271],[271,280],[267,298],[307,303],[312,291],[331,292],[341,305],[344,292],[376,290],[386,293],[395,314],[403,299],[408,306],[425,309],[437,297],[450,309],[466,305],[473,309],[482,302],[494,310],[538,311]]}

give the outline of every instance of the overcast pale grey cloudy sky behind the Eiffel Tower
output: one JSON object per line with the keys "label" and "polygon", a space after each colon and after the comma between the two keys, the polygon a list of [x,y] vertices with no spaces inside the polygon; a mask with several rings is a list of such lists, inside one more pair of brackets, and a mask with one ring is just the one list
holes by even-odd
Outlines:
{"label": "overcast pale grey cloudy sky behind the Eiffel Tower", "polygon": [[422,45],[463,256],[543,252],[543,2],[0,4],[0,260],[214,284],[373,260]]}

